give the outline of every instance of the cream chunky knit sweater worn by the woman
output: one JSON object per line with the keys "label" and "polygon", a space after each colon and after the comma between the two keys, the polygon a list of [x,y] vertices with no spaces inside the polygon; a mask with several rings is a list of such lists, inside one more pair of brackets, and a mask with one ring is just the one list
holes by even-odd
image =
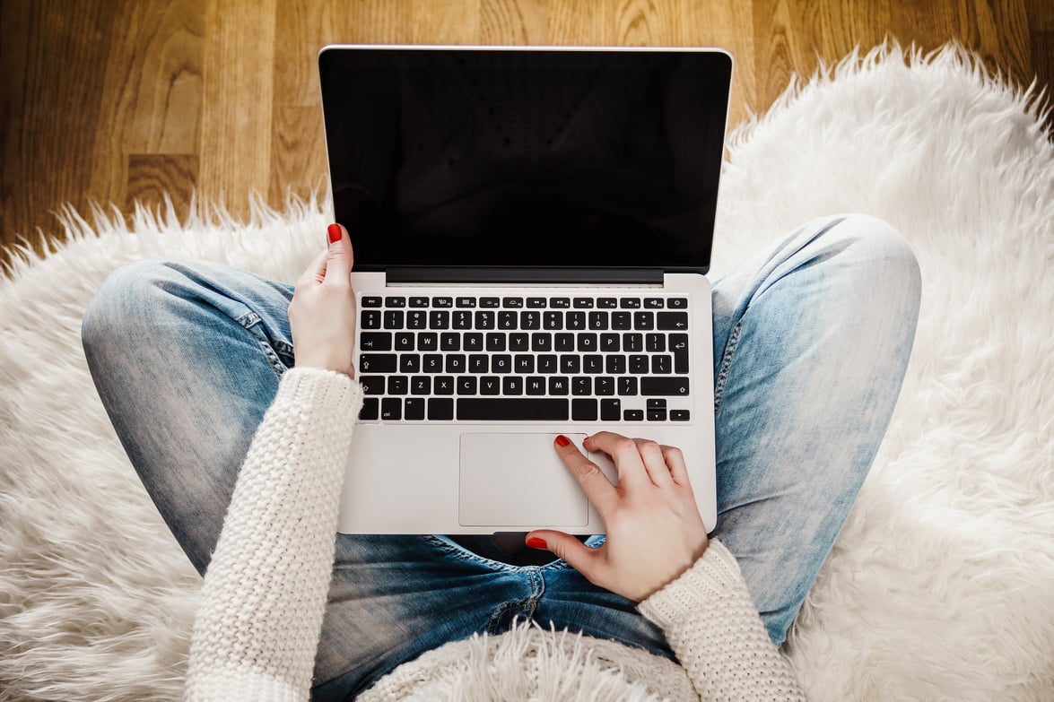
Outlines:
{"label": "cream chunky knit sweater worn by the woman", "polygon": [[[340,373],[282,376],[204,579],[187,700],[309,699],[362,394]],[[640,611],[662,627],[683,668],[614,642],[520,627],[429,651],[360,699],[805,699],[719,541]]]}

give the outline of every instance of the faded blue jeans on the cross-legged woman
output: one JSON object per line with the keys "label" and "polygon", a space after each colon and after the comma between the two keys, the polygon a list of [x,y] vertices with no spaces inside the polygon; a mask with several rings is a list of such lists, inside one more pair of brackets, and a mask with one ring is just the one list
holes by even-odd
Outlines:
{"label": "faded blue jeans on the cross-legged woman", "polygon": [[[323,238],[319,235],[319,248]],[[867,474],[918,316],[910,248],[866,216],[805,225],[714,285],[718,526],[783,642]],[[179,258],[114,272],[82,337],[110,418],[203,572],[256,427],[293,365],[292,288]],[[594,538],[596,541],[596,538]],[[514,566],[446,537],[337,535],[314,698],[530,618],[674,659],[635,604],[563,561]]]}

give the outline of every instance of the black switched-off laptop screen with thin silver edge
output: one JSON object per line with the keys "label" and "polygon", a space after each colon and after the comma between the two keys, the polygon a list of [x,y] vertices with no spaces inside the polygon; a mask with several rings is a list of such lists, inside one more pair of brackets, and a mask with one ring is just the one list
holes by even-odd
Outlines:
{"label": "black switched-off laptop screen with thin silver edge", "polygon": [[720,51],[331,46],[336,220],[355,268],[709,268]]}

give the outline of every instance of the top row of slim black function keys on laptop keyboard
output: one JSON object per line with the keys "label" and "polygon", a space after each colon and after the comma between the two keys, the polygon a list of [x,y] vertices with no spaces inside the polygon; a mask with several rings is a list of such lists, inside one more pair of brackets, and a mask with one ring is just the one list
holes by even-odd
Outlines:
{"label": "top row of slim black function keys on laptop keyboard", "polygon": [[424,297],[403,295],[363,295],[363,307],[422,308],[449,310],[481,307],[484,309],[553,309],[553,310],[686,310],[687,297]]}

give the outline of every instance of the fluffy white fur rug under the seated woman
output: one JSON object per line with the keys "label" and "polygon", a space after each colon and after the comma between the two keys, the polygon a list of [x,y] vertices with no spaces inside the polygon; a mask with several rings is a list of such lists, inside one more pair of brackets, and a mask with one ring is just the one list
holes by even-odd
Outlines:
{"label": "fluffy white fur rug under the seated woman", "polygon": [[[813,699],[1054,699],[1054,150],[1034,98],[958,48],[894,46],[731,140],[715,274],[844,211],[893,222],[922,268],[900,405],[787,644]],[[158,253],[293,281],[326,210],[140,209],[131,231],[67,211],[67,242],[0,281],[0,700],[179,697],[199,582],[87,375],[93,291]]]}

